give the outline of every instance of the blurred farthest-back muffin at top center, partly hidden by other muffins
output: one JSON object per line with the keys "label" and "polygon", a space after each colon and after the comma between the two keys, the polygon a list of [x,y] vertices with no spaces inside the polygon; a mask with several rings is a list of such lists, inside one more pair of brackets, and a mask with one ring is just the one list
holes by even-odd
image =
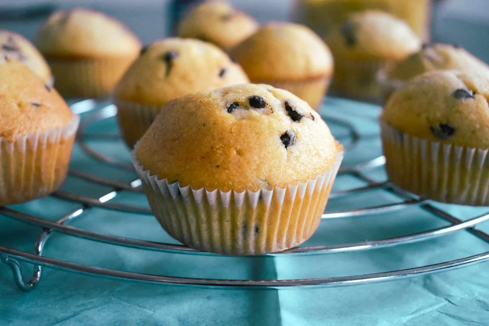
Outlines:
{"label": "blurred farthest-back muffin at top center, partly hidden by other muffins", "polygon": [[180,22],[178,36],[214,43],[227,50],[256,32],[258,22],[228,1],[208,1]]}

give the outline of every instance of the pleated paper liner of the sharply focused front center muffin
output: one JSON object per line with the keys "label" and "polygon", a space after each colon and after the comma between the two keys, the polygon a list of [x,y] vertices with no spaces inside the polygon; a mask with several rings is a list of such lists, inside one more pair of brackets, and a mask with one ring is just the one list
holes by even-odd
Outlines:
{"label": "pleated paper liner of the sharply focused front center muffin", "polygon": [[343,158],[307,182],[259,191],[181,187],[145,169],[132,152],[151,209],[163,229],[192,248],[225,255],[262,255],[311,237],[324,212]]}

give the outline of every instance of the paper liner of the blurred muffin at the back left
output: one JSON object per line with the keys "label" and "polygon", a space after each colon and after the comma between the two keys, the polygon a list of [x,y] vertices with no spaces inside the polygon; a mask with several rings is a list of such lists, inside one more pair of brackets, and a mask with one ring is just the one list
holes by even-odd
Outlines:
{"label": "paper liner of the blurred muffin at the back left", "polygon": [[54,87],[65,97],[103,97],[110,94],[136,59],[64,59],[46,56],[55,78]]}

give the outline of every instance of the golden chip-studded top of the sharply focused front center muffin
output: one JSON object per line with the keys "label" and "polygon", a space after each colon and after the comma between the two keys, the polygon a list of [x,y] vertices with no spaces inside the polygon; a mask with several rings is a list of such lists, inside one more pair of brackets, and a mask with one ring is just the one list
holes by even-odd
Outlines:
{"label": "golden chip-studded top of the sharply focused front center muffin", "polygon": [[243,84],[169,102],[144,134],[137,158],[180,186],[258,191],[304,182],[342,150],[328,126],[292,93]]}

